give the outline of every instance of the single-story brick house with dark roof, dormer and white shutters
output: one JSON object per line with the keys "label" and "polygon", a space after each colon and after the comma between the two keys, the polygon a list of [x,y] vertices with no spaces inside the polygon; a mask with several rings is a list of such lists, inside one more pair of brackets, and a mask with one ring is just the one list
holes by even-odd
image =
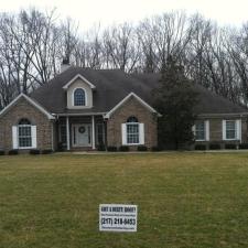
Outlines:
{"label": "single-story brick house with dark roof, dormer and white shutters", "polygon": [[[95,150],[97,145],[157,145],[160,114],[151,91],[158,74],[67,67],[0,112],[0,150]],[[196,85],[196,143],[247,142],[247,110]]]}

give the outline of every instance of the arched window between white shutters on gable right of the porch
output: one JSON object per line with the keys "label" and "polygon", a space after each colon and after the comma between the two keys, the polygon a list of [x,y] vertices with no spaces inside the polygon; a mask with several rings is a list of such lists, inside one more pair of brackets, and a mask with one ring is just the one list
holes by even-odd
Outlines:
{"label": "arched window between white shutters on gable right of the porch", "polygon": [[139,139],[139,123],[136,117],[129,117],[127,120],[127,143],[136,144],[140,142]]}

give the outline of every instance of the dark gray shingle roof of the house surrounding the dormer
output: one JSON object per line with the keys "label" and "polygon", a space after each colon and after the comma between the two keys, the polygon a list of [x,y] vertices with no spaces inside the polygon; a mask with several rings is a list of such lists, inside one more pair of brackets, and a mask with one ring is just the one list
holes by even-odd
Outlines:
{"label": "dark gray shingle roof of the house surrounding the dormer", "polygon": [[[75,110],[66,108],[66,91],[63,89],[63,86],[77,74],[83,75],[96,86],[93,93],[94,107],[90,109]],[[152,106],[151,90],[158,84],[159,78],[159,74],[129,75],[120,69],[97,71],[71,67],[54,77],[46,85],[34,90],[30,96],[53,114],[107,112],[131,91]],[[201,86],[195,87],[201,94],[197,112],[227,114],[246,111],[246,109],[231,104],[223,97],[216,96]]]}

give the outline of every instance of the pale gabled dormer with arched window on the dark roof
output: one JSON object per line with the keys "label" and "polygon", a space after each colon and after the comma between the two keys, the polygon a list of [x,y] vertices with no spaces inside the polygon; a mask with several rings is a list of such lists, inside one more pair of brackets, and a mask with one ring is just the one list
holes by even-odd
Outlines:
{"label": "pale gabled dormer with arched window on the dark roof", "polygon": [[93,90],[96,88],[89,80],[77,74],[63,89],[67,94],[68,109],[84,109],[93,107]]}

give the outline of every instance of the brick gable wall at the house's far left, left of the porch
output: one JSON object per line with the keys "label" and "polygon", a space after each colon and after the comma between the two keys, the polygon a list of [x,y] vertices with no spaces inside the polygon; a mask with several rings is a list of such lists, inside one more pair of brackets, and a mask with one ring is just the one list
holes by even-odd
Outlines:
{"label": "brick gable wall at the house's far left, left of the porch", "polygon": [[0,149],[7,151],[12,149],[12,126],[18,125],[22,118],[29,119],[32,125],[36,126],[37,149],[52,149],[52,141],[55,143],[52,139],[52,133],[54,134],[55,131],[53,121],[24,98],[21,98],[0,118]]}

